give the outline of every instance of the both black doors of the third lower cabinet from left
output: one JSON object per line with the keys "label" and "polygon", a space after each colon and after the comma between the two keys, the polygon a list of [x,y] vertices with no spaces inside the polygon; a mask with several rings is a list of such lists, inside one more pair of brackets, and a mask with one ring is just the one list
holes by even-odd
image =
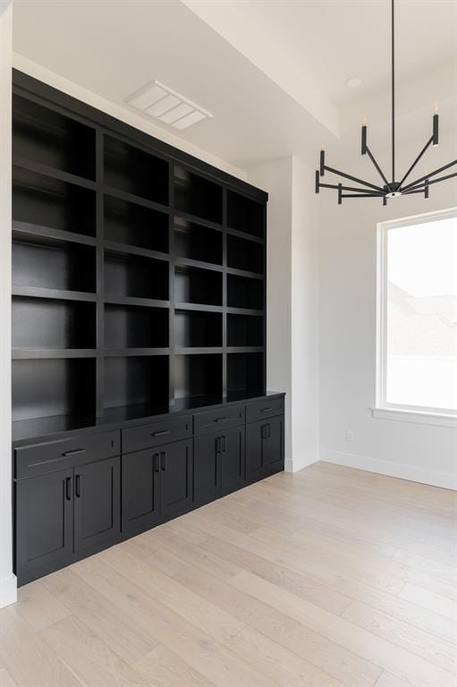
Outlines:
{"label": "both black doors of the third lower cabinet from left", "polygon": [[244,484],[244,427],[195,437],[194,501],[207,504]]}

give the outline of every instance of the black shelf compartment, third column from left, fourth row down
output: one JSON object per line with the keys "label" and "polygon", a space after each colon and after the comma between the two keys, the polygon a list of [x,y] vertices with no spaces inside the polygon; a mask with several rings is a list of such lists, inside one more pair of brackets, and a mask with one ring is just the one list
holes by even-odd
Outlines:
{"label": "black shelf compartment, third column from left, fourth row down", "polygon": [[222,314],[175,310],[174,345],[178,348],[222,346]]}

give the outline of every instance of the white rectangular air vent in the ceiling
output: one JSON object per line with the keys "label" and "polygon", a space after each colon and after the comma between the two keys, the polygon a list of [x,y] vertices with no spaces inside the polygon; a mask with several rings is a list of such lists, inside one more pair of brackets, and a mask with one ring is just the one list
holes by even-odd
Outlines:
{"label": "white rectangular air vent in the ceiling", "polygon": [[126,102],[140,112],[156,117],[179,131],[213,116],[203,107],[192,103],[159,81],[151,81]]}

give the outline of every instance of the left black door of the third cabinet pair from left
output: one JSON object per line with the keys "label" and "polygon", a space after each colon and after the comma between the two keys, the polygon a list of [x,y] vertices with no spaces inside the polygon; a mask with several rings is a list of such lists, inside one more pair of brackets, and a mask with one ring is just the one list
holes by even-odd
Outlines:
{"label": "left black door of the third cabinet pair from left", "polygon": [[193,483],[195,503],[207,504],[221,493],[221,435],[205,434],[194,439]]}

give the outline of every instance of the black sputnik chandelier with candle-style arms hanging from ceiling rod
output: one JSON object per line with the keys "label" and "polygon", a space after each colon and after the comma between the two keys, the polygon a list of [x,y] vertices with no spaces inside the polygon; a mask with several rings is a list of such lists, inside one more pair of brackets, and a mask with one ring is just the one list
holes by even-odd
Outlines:
{"label": "black sputnik chandelier with candle-style arms hanging from ceiling rod", "polygon": [[[453,160],[453,162],[448,163],[447,165],[444,165],[443,167],[440,167],[439,169],[435,169],[433,172],[429,172],[428,174],[424,174],[424,176],[421,176],[419,179],[416,179],[414,182],[407,182],[408,177],[410,176],[410,173],[414,169],[414,167],[418,164],[420,158],[425,154],[427,151],[427,148],[430,146],[437,146],[438,145],[438,114],[433,115],[433,129],[432,129],[432,135],[430,138],[427,140],[426,145],[422,150],[420,151],[418,157],[414,160],[412,165],[410,165],[410,168],[408,169],[405,174],[402,176],[402,180],[400,182],[395,181],[395,45],[394,45],[394,38],[395,38],[395,22],[394,22],[394,0],[392,0],[392,181],[388,182],[387,178],[385,177],[385,174],[381,167],[377,164],[377,160],[375,159],[374,155],[372,154],[371,150],[368,148],[368,142],[367,142],[367,125],[364,123],[362,125],[362,131],[361,131],[361,154],[362,155],[368,155],[369,159],[375,165],[377,169],[377,173],[380,175],[381,179],[383,180],[383,185],[378,185],[376,183],[371,183],[371,182],[365,182],[363,179],[358,179],[356,176],[352,176],[351,174],[346,174],[345,172],[341,172],[338,169],[334,169],[334,167],[329,167],[326,165],[326,152],[325,150],[320,151],[320,165],[319,169],[316,170],[316,193],[320,191],[320,189],[334,189],[335,191],[338,191],[338,204],[341,205],[343,202],[343,198],[380,198],[383,200],[383,205],[387,205],[387,199],[389,198],[398,198],[399,196],[409,196],[413,193],[423,193],[424,198],[428,198],[428,187],[431,186],[433,183],[439,183],[439,182],[444,182],[447,179],[452,179],[454,176],[457,176],[457,172],[453,172],[453,174],[445,174],[444,176],[440,176],[437,179],[436,174],[441,174],[444,172],[444,170],[449,169],[450,167],[453,167],[453,165],[457,165],[457,160]],[[343,183],[338,182],[338,183],[322,183],[321,177],[323,177],[326,172],[330,172],[331,174],[336,174],[339,177],[343,177],[344,179],[350,179],[352,182],[356,182],[360,184],[359,186],[346,186],[343,185]],[[339,181],[339,180],[338,180]]]}

